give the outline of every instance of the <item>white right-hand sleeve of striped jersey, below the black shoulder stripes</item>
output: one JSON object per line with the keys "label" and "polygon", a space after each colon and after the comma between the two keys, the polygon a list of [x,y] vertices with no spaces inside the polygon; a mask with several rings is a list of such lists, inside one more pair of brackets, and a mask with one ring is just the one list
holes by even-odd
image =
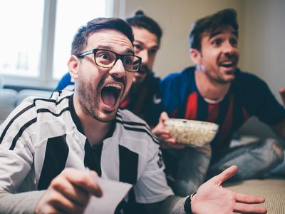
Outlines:
{"label": "white right-hand sleeve of striped jersey, below the black shoulder stripes", "polygon": [[134,186],[135,199],[138,203],[155,203],[173,195],[167,185],[164,168],[159,146],[156,143],[150,143],[147,165]]}

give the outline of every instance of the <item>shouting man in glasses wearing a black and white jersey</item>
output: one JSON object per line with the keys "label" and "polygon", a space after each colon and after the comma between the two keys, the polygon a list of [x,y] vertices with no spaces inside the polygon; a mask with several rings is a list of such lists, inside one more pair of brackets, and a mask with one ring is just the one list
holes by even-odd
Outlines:
{"label": "shouting man in glasses wearing a black and white jersey", "polygon": [[133,185],[118,213],[266,213],[251,204],[264,198],[222,188],[237,166],[195,195],[173,195],[157,139],[145,121],[119,109],[140,61],[122,19],[78,29],[68,60],[74,92],[26,98],[0,126],[0,213],[84,213],[91,195],[104,194],[86,167]]}

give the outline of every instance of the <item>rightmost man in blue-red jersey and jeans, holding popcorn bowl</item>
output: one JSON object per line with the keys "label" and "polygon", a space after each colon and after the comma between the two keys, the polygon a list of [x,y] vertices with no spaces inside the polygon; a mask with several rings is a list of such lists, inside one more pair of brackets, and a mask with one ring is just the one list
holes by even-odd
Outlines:
{"label": "rightmost man in blue-red jersey and jeans, holding popcorn bowl", "polygon": [[219,125],[210,146],[165,150],[166,168],[175,177],[174,190],[178,195],[197,190],[199,184],[229,165],[239,167],[232,180],[242,180],[263,175],[284,158],[276,141],[229,148],[233,133],[251,116],[257,116],[285,139],[284,106],[276,101],[264,81],[237,67],[238,37],[233,9],[199,19],[189,37],[195,66],[162,80],[162,101],[170,117]]}

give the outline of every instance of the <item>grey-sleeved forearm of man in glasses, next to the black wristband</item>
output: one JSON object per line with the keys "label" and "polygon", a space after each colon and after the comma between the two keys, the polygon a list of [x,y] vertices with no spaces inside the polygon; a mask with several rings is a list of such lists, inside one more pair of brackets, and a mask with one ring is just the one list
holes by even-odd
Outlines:
{"label": "grey-sleeved forearm of man in glasses, next to the black wristband", "polygon": [[172,195],[163,201],[158,203],[147,204],[146,209],[149,213],[159,214],[186,214],[185,212],[185,200],[179,196]]}

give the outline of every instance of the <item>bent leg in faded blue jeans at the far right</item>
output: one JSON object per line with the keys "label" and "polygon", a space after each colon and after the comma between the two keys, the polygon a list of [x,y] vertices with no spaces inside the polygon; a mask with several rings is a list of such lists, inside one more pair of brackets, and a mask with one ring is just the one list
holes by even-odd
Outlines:
{"label": "bent leg in faded blue jeans at the far right", "polygon": [[230,148],[215,156],[209,166],[207,178],[211,178],[231,165],[239,170],[230,181],[259,178],[279,165],[284,158],[283,148],[273,139],[259,140],[245,146]]}

